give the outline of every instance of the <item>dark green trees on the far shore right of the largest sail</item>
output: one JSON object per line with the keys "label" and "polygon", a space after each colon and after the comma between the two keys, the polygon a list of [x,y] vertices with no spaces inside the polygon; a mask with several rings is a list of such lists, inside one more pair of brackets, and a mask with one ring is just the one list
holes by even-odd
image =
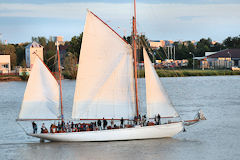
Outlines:
{"label": "dark green trees on the far shore right of the largest sail", "polygon": [[[131,43],[131,37],[124,37],[124,39],[128,43]],[[140,36],[138,41],[139,43],[145,43],[141,45],[150,48],[150,44],[144,35]],[[215,52],[227,48],[240,48],[240,35],[236,37],[227,37],[223,43],[214,43],[211,38],[202,38],[196,43],[192,43],[191,41],[174,42],[173,46],[175,46],[175,59],[188,59],[190,62],[192,62],[193,55],[189,54],[190,52],[194,54],[195,57],[203,57],[205,56],[205,52]],[[152,50],[152,52],[154,53],[155,59],[167,59],[168,49],[166,47],[160,47],[158,49]],[[143,60],[142,57],[139,59]]]}

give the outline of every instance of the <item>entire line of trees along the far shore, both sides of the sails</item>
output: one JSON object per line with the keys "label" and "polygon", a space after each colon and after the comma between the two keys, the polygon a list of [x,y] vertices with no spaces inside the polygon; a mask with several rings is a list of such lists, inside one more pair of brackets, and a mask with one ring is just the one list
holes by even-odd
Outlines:
{"label": "entire line of trees along the far shore, both sides of the sails", "polygon": [[[77,74],[77,63],[81,49],[82,43],[81,33],[78,36],[72,37],[71,41],[65,42],[64,45],[60,46],[65,50],[65,56],[62,57],[64,71],[63,74],[67,78],[75,78]],[[131,44],[131,37],[124,37],[124,39]],[[32,41],[36,41],[44,47],[44,62],[52,70],[56,71],[56,46],[52,37],[49,39],[45,37],[32,37]],[[137,40],[141,46],[145,46],[149,51],[154,53],[155,59],[164,60],[167,58],[166,48],[158,48],[157,50],[151,50],[148,44],[148,40],[144,35],[139,36]],[[11,67],[14,69],[15,66],[26,67],[25,62],[25,47],[29,43],[21,44],[7,44],[4,45],[0,43],[0,54],[10,55],[11,56]],[[176,59],[188,59],[190,64],[192,62],[192,55],[189,52],[192,52],[196,57],[204,56],[205,52],[214,52],[223,50],[226,48],[240,48],[240,35],[236,37],[227,37],[223,43],[213,43],[211,38],[202,38],[196,44],[193,44],[191,41],[185,42],[174,42],[173,44],[176,49]],[[141,50],[141,48],[139,48]],[[150,57],[153,58],[153,57]],[[143,60],[140,55],[139,60]]]}

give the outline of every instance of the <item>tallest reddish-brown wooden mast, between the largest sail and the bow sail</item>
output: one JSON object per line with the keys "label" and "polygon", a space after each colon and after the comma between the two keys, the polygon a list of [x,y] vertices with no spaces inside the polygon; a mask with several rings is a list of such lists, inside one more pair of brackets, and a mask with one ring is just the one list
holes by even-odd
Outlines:
{"label": "tallest reddish-brown wooden mast, between the largest sail and the bow sail", "polygon": [[138,87],[137,87],[137,46],[136,46],[136,37],[137,37],[137,27],[136,27],[136,0],[134,0],[134,16],[133,16],[133,57],[134,57],[134,79],[135,79],[135,95],[136,95],[136,113],[137,117],[138,112]]}

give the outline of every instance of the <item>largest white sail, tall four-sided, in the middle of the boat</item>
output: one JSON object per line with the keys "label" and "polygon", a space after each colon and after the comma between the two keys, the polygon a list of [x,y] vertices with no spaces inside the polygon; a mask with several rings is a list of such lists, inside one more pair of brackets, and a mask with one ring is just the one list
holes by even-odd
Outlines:
{"label": "largest white sail, tall four-sided, in the middle of the boat", "polygon": [[88,11],[72,118],[133,118],[133,84],[131,46]]}

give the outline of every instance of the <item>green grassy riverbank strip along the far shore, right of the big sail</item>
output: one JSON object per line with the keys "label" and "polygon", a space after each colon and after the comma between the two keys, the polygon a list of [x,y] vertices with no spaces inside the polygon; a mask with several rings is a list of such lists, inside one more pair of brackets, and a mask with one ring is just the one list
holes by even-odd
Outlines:
{"label": "green grassy riverbank strip along the far shore, right of the big sail", "polygon": [[[240,75],[240,71],[231,70],[164,70],[157,69],[159,77],[190,77],[190,76],[226,76],[226,75]],[[140,70],[138,73],[139,77],[145,77],[144,70]]]}

